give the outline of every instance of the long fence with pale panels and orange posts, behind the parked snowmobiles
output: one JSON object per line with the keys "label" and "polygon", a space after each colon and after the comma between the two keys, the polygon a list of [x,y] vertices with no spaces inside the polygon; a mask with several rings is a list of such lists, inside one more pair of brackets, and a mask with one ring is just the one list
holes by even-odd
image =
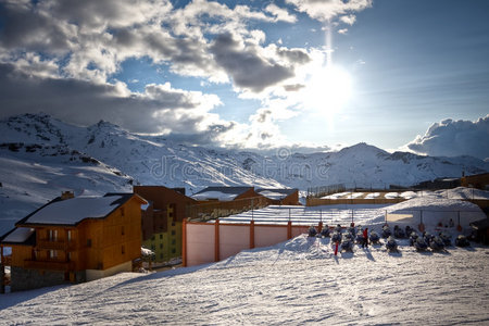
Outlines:
{"label": "long fence with pale panels and orange posts, behind the parked snowmobiles", "polygon": [[184,221],[183,225],[183,263],[192,266],[217,262],[239,253],[246,249],[273,246],[301,234],[308,233],[310,226],[319,231],[323,226],[343,227],[354,222],[355,225],[381,231],[388,223],[411,227],[417,230],[436,233],[467,234],[469,224],[485,218],[480,211],[441,211],[441,210],[405,210],[389,213],[385,209],[377,210],[324,210],[314,208],[271,206],[260,211],[243,213],[216,220],[214,223]]}

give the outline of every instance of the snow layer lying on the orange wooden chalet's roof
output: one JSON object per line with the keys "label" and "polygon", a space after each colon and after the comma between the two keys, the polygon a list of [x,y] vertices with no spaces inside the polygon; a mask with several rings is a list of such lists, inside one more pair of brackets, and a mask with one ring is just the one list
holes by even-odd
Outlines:
{"label": "snow layer lying on the orange wooden chalet's roof", "polygon": [[112,212],[121,196],[80,197],[53,202],[32,215],[28,223],[76,225],[84,218],[101,218]]}

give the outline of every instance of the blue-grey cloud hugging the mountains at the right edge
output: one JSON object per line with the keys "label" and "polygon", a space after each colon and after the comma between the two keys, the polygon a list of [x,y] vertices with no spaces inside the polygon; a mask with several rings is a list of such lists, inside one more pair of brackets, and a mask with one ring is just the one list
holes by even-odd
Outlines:
{"label": "blue-grey cloud hugging the mountains at the right edge", "polygon": [[432,124],[424,136],[405,147],[415,152],[436,156],[472,155],[489,158],[489,114],[476,122],[444,120]]}

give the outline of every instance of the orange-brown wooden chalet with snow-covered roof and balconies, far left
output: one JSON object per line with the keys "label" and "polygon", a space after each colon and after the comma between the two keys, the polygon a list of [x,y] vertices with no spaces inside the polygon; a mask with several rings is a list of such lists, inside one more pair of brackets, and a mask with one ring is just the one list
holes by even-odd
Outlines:
{"label": "orange-brown wooden chalet with snow-covered roof and balconies, far left", "polygon": [[[98,279],[131,272],[141,255],[141,204],[133,193],[77,197],[65,192],[0,238],[11,290]],[[3,247],[11,256],[3,256]]]}

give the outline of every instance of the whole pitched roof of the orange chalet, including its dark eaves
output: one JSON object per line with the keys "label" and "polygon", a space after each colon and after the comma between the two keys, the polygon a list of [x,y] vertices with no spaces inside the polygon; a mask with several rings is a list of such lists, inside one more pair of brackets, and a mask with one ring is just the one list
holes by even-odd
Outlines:
{"label": "whole pitched roof of the orange chalet, including its dark eaves", "polygon": [[146,203],[142,198],[133,193],[108,193],[104,197],[76,197],[66,200],[57,198],[17,222],[15,226],[75,226],[87,218],[102,220],[135,196],[141,203]]}

